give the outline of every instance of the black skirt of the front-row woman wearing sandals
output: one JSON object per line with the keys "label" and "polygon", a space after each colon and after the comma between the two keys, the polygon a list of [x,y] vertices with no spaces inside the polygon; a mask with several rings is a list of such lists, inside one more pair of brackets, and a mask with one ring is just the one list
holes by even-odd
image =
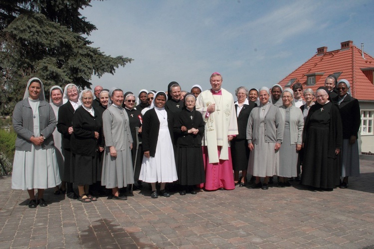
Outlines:
{"label": "black skirt of the front-row woman wearing sandals", "polygon": [[71,153],[71,161],[74,165],[74,181],[77,185],[91,185],[97,179],[97,154],[95,156],[83,156]]}

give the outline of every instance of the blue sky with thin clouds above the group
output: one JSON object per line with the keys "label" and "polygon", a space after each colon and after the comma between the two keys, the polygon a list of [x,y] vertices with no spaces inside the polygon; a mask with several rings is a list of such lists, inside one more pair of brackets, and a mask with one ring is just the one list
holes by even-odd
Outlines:
{"label": "blue sky with thin clouds above the group", "polygon": [[93,87],[189,91],[271,87],[311,58],[318,47],[353,40],[374,56],[373,0],[93,0],[81,11],[97,30],[92,46],[134,61]]}

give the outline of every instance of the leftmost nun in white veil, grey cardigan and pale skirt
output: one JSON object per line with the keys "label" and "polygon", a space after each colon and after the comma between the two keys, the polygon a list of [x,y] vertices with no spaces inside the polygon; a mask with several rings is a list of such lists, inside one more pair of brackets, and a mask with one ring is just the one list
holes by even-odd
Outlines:
{"label": "leftmost nun in white veil, grey cardigan and pale skirt", "polygon": [[[43,83],[31,78],[23,100],[15,105],[13,128],[17,133],[12,173],[12,189],[27,190],[29,208],[47,206],[44,189],[61,183],[52,132],[56,117],[45,102]],[[38,189],[37,200],[34,189]]]}

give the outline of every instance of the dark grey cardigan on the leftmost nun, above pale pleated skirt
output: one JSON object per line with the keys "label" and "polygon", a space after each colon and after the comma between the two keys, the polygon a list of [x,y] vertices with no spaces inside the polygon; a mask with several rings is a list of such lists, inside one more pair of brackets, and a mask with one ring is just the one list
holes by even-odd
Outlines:
{"label": "dark grey cardigan on the leftmost nun, above pale pleated skirt", "polygon": [[[49,103],[40,101],[39,103],[39,127],[40,134],[45,137],[42,149],[54,147],[52,132],[56,128],[56,117]],[[32,109],[28,103],[28,98],[18,102],[13,111],[13,128],[17,132],[15,139],[15,150],[31,151],[30,141],[34,134],[34,124],[32,118]]]}

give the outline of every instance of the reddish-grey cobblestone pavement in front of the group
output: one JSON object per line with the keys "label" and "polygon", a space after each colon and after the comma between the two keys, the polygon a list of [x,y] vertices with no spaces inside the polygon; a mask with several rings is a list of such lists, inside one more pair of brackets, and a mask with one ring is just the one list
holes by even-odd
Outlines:
{"label": "reddish-grey cobblestone pavement in front of the group", "polygon": [[[333,192],[236,187],[81,203],[45,192],[47,207],[0,178],[0,248],[365,248],[374,244],[374,161]],[[276,181],[275,181],[276,182]]]}

